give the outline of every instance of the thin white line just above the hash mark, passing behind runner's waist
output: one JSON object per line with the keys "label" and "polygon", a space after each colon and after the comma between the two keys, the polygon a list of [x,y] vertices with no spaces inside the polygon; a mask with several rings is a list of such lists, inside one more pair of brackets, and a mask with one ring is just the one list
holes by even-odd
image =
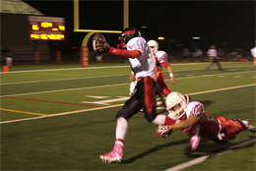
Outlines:
{"label": "thin white line just above the hash mark, passing behind runner's waist", "polygon": [[[191,79],[191,78],[201,78],[201,77],[212,77],[212,76],[219,76],[219,75],[231,75],[231,74],[237,74],[237,73],[251,73],[251,72],[255,72],[255,71],[226,73],[226,74],[217,74],[217,75],[194,76],[194,77],[187,77],[187,78],[177,78],[176,80]],[[167,80],[169,80],[169,79],[165,79],[165,81],[167,81]],[[116,85],[130,85],[130,83],[116,84]],[[1,95],[0,97],[3,97],[3,96],[29,95],[29,94],[37,94],[37,93],[48,93],[48,92],[58,92],[58,91],[66,91],[66,90],[88,89],[88,88],[106,87],[106,86],[115,86],[115,85],[98,85],[98,86],[88,86],[88,87],[75,87],[75,88],[68,88],[68,89],[46,90],[46,91],[38,91],[38,92],[28,92],[28,93]]]}

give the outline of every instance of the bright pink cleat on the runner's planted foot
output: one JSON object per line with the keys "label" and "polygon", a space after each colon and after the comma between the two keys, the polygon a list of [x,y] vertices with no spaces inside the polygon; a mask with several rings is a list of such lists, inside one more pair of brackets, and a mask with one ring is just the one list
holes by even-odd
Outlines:
{"label": "bright pink cleat on the runner's planted foot", "polygon": [[112,151],[102,154],[99,157],[102,161],[107,163],[120,163],[123,158],[123,146],[121,144],[115,143]]}

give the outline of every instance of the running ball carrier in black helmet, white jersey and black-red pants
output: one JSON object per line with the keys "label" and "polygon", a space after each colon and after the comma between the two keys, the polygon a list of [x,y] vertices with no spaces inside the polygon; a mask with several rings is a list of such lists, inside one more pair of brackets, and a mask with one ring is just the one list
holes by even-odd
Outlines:
{"label": "running ball carrier in black helmet, white jersey and black-red pants", "polygon": [[[124,138],[128,128],[127,120],[144,109],[146,119],[153,124],[170,125],[172,120],[166,115],[157,114],[156,95],[159,93],[155,81],[156,62],[147,41],[141,36],[137,28],[125,28],[119,36],[119,48],[108,47],[108,43],[101,39],[97,50],[128,58],[131,70],[137,81],[137,91],[127,100],[123,108],[116,115],[115,143],[113,150],[100,155],[105,162],[121,162],[123,158]],[[126,49],[120,49],[120,46]]]}

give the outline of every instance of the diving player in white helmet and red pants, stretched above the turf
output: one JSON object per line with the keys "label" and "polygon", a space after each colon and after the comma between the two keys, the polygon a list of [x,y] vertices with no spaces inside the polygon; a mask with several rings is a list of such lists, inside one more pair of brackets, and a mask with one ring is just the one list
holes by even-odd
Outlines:
{"label": "diving player in white helmet and red pants, stretched above the turf", "polygon": [[223,116],[211,117],[204,109],[204,105],[198,101],[187,102],[184,96],[172,91],[166,98],[168,117],[175,124],[157,128],[156,134],[160,137],[168,137],[172,131],[183,130],[190,137],[191,149],[197,148],[200,137],[220,144],[235,138],[241,131],[255,133],[255,127],[249,125],[247,120],[226,119]]}

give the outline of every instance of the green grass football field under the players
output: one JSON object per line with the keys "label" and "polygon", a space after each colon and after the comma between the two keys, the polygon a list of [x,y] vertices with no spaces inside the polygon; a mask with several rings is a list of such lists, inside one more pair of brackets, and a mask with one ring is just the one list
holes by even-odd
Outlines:
{"label": "green grass football field under the players", "polygon": [[[191,94],[211,116],[256,123],[256,71],[251,62],[172,64],[177,84],[171,90]],[[14,66],[0,72],[1,171],[161,171],[222,151],[256,135],[242,132],[224,145],[202,139],[195,151],[181,132],[155,135],[143,113],[128,122],[122,163],[99,155],[112,149],[115,115],[129,98],[128,64]],[[183,170],[256,170],[255,142]]]}

